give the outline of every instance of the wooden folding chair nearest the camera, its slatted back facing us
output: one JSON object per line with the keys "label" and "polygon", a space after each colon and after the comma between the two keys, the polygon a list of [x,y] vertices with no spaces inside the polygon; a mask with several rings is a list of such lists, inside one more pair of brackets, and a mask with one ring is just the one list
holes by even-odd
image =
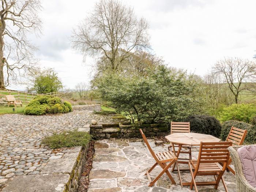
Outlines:
{"label": "wooden folding chair nearest the camera, its slatted back facing us", "polygon": [[[191,190],[195,186],[195,191],[197,192],[196,185],[214,185],[214,188],[217,189],[221,180],[225,191],[228,192],[222,176],[229,162],[229,151],[227,149],[229,146],[232,146],[231,142],[201,142],[198,159],[190,160],[188,163],[192,180],[191,182],[183,183],[183,185],[190,185]],[[223,163],[223,167],[219,163]],[[195,169],[194,172],[192,171],[192,167]],[[209,175],[213,175],[215,181],[195,181],[196,176]]]}

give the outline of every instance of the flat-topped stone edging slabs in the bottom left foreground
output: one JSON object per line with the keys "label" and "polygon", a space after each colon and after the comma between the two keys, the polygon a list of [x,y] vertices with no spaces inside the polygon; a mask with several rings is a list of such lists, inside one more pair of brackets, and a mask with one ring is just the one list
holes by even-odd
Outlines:
{"label": "flat-topped stone edging slabs in the bottom left foreground", "polygon": [[76,192],[88,147],[89,143],[85,147],[58,149],[64,153],[62,157],[50,159],[40,174],[13,177],[2,192]]}

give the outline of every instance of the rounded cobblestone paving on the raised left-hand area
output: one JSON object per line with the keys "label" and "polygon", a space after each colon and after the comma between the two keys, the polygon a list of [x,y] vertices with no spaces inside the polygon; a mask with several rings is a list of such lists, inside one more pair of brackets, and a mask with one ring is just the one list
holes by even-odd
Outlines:
{"label": "rounded cobblestone paving on the raised left-hand area", "polygon": [[111,116],[93,114],[92,111],[46,116],[0,115],[0,185],[13,176],[39,174],[49,159],[63,155],[41,146],[41,139],[45,136],[87,127],[92,119],[114,121]]}

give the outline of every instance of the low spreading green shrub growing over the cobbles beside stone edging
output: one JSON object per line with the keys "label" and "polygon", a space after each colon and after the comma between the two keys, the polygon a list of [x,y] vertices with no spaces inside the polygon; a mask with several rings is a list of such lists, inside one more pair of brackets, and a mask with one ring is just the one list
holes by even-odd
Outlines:
{"label": "low spreading green shrub growing over the cobbles beside stone edging", "polygon": [[85,146],[91,140],[91,135],[87,132],[64,131],[62,133],[54,133],[52,136],[45,137],[41,144],[48,146],[51,149],[60,147]]}

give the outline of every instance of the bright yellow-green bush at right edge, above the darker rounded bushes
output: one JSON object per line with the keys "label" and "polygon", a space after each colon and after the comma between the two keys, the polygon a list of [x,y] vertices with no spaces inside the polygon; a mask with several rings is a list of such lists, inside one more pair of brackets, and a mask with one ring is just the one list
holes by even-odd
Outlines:
{"label": "bright yellow-green bush at right edge, above the darker rounded bushes", "polygon": [[252,118],[256,116],[255,104],[232,104],[223,108],[219,113],[222,122],[229,120],[243,121],[250,123]]}

